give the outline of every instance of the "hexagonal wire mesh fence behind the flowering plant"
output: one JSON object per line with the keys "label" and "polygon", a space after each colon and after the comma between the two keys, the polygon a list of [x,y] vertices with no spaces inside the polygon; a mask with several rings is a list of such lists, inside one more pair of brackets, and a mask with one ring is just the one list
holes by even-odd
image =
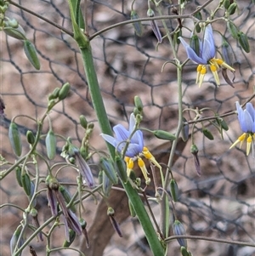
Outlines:
{"label": "hexagonal wire mesh fence behind the flowering plant", "polygon": [[[175,14],[173,8],[178,9],[179,5],[170,2],[161,2],[162,14]],[[184,14],[190,14],[204,4],[204,1],[180,2],[186,4]],[[207,20],[218,3],[219,1],[212,1],[201,10],[202,20]],[[132,4],[132,1],[116,3],[111,0],[92,0],[81,3],[82,12],[88,17],[88,34],[91,38],[94,63],[107,115],[112,126],[120,122],[127,126],[129,116],[133,111],[133,98],[139,95],[144,105],[141,126],[150,130],[162,129],[175,133],[178,125],[178,77],[176,66],[173,65],[175,56],[167,39],[163,38],[162,43],[157,44],[149,20],[142,23],[142,37],[137,36],[131,24],[101,31],[107,26],[130,20]],[[226,22],[221,19],[224,16],[224,9],[219,10],[214,17],[216,22],[212,24],[213,36],[218,54],[221,53],[222,35],[233,49],[234,87],[229,86],[221,74],[219,75],[220,86],[217,87],[212,73],[208,72],[199,88],[195,84],[196,65],[189,61],[182,73],[182,103],[184,117],[190,122],[190,127],[197,113],[190,109],[204,109],[201,118],[207,118],[214,116],[213,111],[219,115],[235,111],[235,101],[243,104],[246,100],[252,100],[255,8],[253,1],[239,1],[237,4],[238,11],[231,20],[239,30],[246,34],[250,52],[246,53],[241,44],[229,33]],[[137,0],[133,7],[139,17],[146,17],[147,1]],[[39,19],[35,14],[42,16],[44,20]],[[20,117],[16,118],[15,122],[22,134],[23,151],[29,151],[30,146],[26,142],[26,134],[28,130],[36,134],[37,126],[31,118],[24,116],[35,119],[42,117],[48,108],[48,94],[65,82],[70,82],[71,92],[64,101],[55,105],[49,114],[54,133],[61,134],[63,138],[71,137],[75,145],[81,145],[84,129],[80,125],[79,117],[84,115],[88,122],[94,123],[94,131],[89,140],[90,146],[97,151],[105,150],[105,141],[99,136],[101,132],[88,90],[88,80],[84,75],[81,54],[67,33],[71,31],[67,1],[20,0],[17,3],[11,2],[6,15],[18,20],[26,31],[26,37],[34,43],[41,62],[41,69],[35,71],[26,59],[23,43],[20,40],[1,32],[0,81],[1,95],[5,104],[5,116],[0,121],[1,155],[8,163],[19,161],[14,156],[8,139],[8,127],[11,120],[19,115]],[[54,22],[54,25],[49,24],[47,20]],[[156,20],[156,23],[161,34],[165,35],[166,31],[161,20]],[[178,20],[166,19],[166,24],[168,31],[172,32],[178,26]],[[66,31],[60,31],[56,25],[64,27]],[[193,27],[194,22],[191,19],[183,19],[182,26],[182,37],[188,42],[190,31],[187,28]],[[177,38],[173,36],[173,40]],[[182,44],[178,44],[177,51],[179,60],[185,61],[187,55]],[[165,65],[166,62],[168,63]],[[232,80],[233,76],[230,73],[229,79]],[[212,122],[203,122],[203,125],[213,135],[213,140],[204,136],[203,127],[200,124],[194,128],[192,137],[199,150],[201,176],[197,175],[194,158],[190,153],[190,139],[186,142],[178,139],[172,172],[178,183],[180,197],[174,206],[170,204],[169,215],[173,222],[174,208],[178,219],[182,221],[186,233],[190,236],[207,236],[254,243],[255,160],[251,155],[246,156],[244,147],[229,150],[229,146],[241,134],[241,129],[235,113],[226,115],[224,121],[227,122],[229,130],[224,131],[223,136],[218,133],[218,129],[213,126]],[[48,123],[43,123],[42,133],[47,134],[48,128]],[[146,131],[144,131],[144,141],[156,160],[165,167],[171,143],[162,142],[163,140],[156,139]],[[57,156],[52,163],[63,161],[60,156],[63,145],[65,145],[65,140],[59,138]],[[40,140],[38,151],[42,155],[46,154],[44,139]],[[94,177],[99,175],[98,162],[99,157],[95,154],[90,159]],[[6,170],[8,163],[2,161],[2,171]],[[35,177],[37,170],[32,160],[27,168],[31,177]],[[39,162],[38,168],[40,175],[45,177],[47,164],[43,161]],[[73,195],[76,191],[74,184],[77,172],[67,168],[59,172],[58,177],[61,184],[66,185]],[[37,196],[38,220],[39,223],[44,223],[51,215],[45,185],[40,185],[40,189],[42,192]],[[120,224],[123,237],[120,238],[114,233],[106,214],[105,201],[98,196],[88,196],[83,201],[85,209],[82,211],[82,216],[88,223],[88,239],[91,246],[87,248],[86,240],[81,237],[75,240],[73,246],[81,248],[85,255],[151,255],[150,247],[148,247],[138,220],[130,217],[127,196],[118,189],[118,187],[112,189],[108,204],[115,210],[116,221]],[[1,179],[0,191],[0,254],[9,255],[10,239],[22,219],[20,208],[26,209],[28,201],[22,188],[17,185],[14,172]],[[146,192],[149,196],[154,196],[154,186],[150,185]],[[98,203],[96,203],[97,200]],[[14,208],[13,205],[18,208]],[[156,220],[159,221],[158,204],[151,202],[150,206],[156,215]],[[58,230],[54,230],[51,236],[51,244],[55,248],[60,247],[65,240],[63,226],[59,229],[63,229],[60,235]],[[46,226],[43,231],[47,233],[49,230],[50,225]],[[29,235],[30,233],[26,236]],[[171,229],[170,235],[173,235]],[[38,242],[34,239],[30,245],[37,255],[46,255],[46,242],[47,239],[38,240]],[[178,242],[170,242],[168,247],[170,249],[167,255],[178,255]],[[28,246],[24,253],[28,255],[29,250]],[[205,242],[199,239],[189,240],[189,250],[193,255],[255,255],[254,247]],[[77,255],[76,252],[70,250],[56,250],[52,254]]]}

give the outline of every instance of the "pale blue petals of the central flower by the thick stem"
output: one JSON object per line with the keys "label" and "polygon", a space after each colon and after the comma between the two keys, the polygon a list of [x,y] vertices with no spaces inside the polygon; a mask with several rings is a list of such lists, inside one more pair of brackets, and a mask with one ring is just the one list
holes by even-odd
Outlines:
{"label": "pale blue petals of the central flower by the thick stem", "polygon": [[116,148],[116,150],[119,152],[122,152],[126,147],[126,144],[129,142],[127,146],[127,151],[125,152],[125,156],[133,157],[133,156],[138,156],[139,153],[141,153],[144,148],[144,137],[143,137],[142,131],[136,130],[133,133],[134,129],[135,129],[135,117],[132,113],[129,120],[128,130],[124,128],[122,124],[117,124],[113,128],[113,131],[116,134],[116,138],[107,134],[101,134],[101,135],[108,143],[113,145]]}

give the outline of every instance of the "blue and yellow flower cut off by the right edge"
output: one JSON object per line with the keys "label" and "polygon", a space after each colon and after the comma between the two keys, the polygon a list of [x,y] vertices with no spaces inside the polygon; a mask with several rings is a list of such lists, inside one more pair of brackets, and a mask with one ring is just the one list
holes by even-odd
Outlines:
{"label": "blue and yellow flower cut off by the right edge", "polygon": [[238,120],[241,126],[243,134],[235,140],[230,149],[236,144],[240,143],[240,147],[244,140],[246,140],[246,156],[249,155],[252,147],[252,155],[254,154],[253,143],[255,141],[255,108],[252,103],[248,102],[246,104],[246,110],[241,108],[239,102],[236,102],[236,111],[238,114]]}

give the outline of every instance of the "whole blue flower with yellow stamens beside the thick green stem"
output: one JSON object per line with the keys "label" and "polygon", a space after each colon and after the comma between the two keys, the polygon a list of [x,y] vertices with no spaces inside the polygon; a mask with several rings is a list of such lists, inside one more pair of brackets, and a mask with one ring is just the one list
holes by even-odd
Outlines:
{"label": "whole blue flower with yellow stamens beside the thick green stem", "polygon": [[161,168],[160,164],[156,162],[156,159],[147,147],[144,146],[144,136],[142,131],[136,129],[136,119],[132,113],[129,119],[128,130],[117,124],[113,131],[116,134],[116,138],[108,134],[101,134],[102,137],[111,145],[116,148],[116,151],[124,154],[125,162],[127,163],[127,176],[130,175],[133,170],[133,162],[138,161],[139,168],[141,169],[144,179],[147,185],[150,184],[150,178],[148,177],[148,171],[144,164],[142,157],[150,160],[156,167]]}

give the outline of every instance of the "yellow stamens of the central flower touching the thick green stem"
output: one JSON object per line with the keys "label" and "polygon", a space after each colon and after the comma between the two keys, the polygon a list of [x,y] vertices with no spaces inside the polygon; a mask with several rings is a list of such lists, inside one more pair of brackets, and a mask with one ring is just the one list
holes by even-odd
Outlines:
{"label": "yellow stamens of the central flower touching the thick green stem", "polygon": [[133,171],[133,162],[135,160],[138,160],[139,168],[144,175],[145,184],[149,185],[150,184],[150,178],[148,177],[149,173],[145,166],[144,160],[141,158],[141,156],[144,156],[146,159],[148,159],[150,162],[152,162],[154,165],[156,165],[157,168],[161,169],[161,165],[158,162],[156,162],[155,157],[152,156],[152,154],[146,147],[144,147],[142,153],[139,156],[134,156],[133,158],[125,156],[125,162],[127,163],[127,177],[129,177],[130,173]]}

